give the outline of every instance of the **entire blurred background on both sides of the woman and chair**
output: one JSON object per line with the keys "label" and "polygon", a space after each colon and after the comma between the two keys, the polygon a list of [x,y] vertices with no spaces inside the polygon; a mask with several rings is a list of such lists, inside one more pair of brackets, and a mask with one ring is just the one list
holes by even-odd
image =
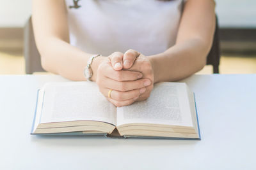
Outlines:
{"label": "entire blurred background on both sides of the woman and chair", "polygon": [[[255,0],[216,0],[221,74],[256,73],[255,9]],[[26,73],[24,25],[30,16],[31,0],[0,0],[0,74]],[[205,66],[198,74],[211,73],[212,66]]]}

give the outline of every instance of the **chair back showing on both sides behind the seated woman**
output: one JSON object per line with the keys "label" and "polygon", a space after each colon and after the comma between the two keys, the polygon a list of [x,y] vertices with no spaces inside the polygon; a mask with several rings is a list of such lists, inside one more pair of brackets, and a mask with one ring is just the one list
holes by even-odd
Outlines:
{"label": "chair back showing on both sides behind the seated woman", "polygon": [[[220,64],[220,38],[218,18],[212,48],[207,56],[207,65],[212,65],[213,73],[219,73]],[[26,74],[45,71],[41,66],[40,54],[36,48],[32,20],[29,18],[24,28],[24,57],[26,60]]]}

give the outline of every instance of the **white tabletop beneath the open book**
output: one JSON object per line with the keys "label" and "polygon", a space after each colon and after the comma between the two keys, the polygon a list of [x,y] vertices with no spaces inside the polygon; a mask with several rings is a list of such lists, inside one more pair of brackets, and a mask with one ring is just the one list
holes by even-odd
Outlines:
{"label": "white tabletop beneath the open book", "polygon": [[31,136],[36,90],[60,76],[0,76],[0,169],[256,169],[256,74],[187,78],[201,141]]}

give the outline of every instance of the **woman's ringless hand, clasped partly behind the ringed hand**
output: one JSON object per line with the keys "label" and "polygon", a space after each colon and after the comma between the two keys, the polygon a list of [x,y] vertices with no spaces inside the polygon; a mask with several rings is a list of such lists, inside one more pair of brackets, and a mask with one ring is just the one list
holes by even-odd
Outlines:
{"label": "woman's ringless hand, clasped partly behind the ringed hand", "polygon": [[135,50],[127,50],[124,55],[111,57],[111,65],[115,70],[136,71],[143,74],[143,78],[150,80],[150,85],[146,87],[146,92],[140,95],[136,101],[144,101],[150,96],[154,87],[154,71],[152,63],[145,55]]}

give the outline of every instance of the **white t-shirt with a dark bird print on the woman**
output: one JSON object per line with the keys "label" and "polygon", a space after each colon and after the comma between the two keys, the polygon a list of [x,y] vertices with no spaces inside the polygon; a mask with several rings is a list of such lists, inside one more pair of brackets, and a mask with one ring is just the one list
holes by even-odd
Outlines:
{"label": "white t-shirt with a dark bird print on the woman", "polygon": [[70,44],[84,52],[153,55],[175,44],[183,0],[74,1],[66,0]]}

